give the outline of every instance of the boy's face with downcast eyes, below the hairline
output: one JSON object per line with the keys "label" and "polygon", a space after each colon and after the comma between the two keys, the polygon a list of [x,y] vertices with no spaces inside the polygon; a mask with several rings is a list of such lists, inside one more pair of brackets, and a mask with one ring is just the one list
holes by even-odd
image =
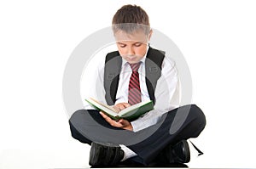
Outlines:
{"label": "boy's face with downcast eyes, below the hairline", "polygon": [[149,32],[149,35],[145,35],[144,31],[134,31],[131,34],[125,31],[115,32],[114,37],[121,57],[130,64],[135,64],[143,59],[151,34],[152,31]]}

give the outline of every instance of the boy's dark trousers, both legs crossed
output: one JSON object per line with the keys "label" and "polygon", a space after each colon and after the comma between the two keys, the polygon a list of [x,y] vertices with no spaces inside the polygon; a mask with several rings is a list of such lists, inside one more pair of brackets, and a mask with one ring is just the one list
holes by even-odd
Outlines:
{"label": "boy's dark trousers, both legs crossed", "polygon": [[131,161],[147,165],[167,145],[198,137],[206,126],[206,118],[197,105],[191,104],[167,112],[157,124],[138,132],[110,126],[97,110],[77,110],[69,124],[73,138],[80,142],[125,144],[137,153]]}

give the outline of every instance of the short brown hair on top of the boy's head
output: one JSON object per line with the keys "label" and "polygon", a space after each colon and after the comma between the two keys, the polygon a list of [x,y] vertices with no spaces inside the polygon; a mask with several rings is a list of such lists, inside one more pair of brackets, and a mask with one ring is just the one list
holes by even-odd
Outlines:
{"label": "short brown hair on top of the boy's head", "polygon": [[114,33],[119,30],[131,33],[143,29],[148,34],[150,31],[148,14],[140,6],[125,5],[113,15],[112,28]]}

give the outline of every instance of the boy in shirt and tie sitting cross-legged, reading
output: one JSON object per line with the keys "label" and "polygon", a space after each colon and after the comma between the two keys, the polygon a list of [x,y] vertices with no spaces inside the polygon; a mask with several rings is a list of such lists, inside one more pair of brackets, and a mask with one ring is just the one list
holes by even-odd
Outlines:
{"label": "boy in shirt and tie sitting cross-legged, reading", "polygon": [[[135,121],[113,121],[86,106],[70,118],[73,138],[91,145],[90,166],[189,162],[186,139],[201,133],[205,116],[195,104],[177,109],[177,70],[164,52],[149,47],[148,14],[136,5],[125,5],[114,14],[112,25],[118,51],[98,65],[98,81],[91,84],[97,86],[96,99],[116,110],[150,99],[154,110]],[[182,124],[174,120],[176,116]]]}

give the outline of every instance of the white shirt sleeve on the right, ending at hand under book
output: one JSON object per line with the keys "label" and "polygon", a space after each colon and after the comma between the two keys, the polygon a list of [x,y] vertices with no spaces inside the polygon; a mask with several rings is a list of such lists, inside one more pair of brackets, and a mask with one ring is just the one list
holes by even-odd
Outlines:
{"label": "white shirt sleeve on the right, ending at hand under book", "polygon": [[167,57],[163,60],[161,76],[155,87],[154,96],[154,110],[131,121],[134,132],[156,124],[163,114],[178,107],[180,93],[177,68],[174,61]]}

